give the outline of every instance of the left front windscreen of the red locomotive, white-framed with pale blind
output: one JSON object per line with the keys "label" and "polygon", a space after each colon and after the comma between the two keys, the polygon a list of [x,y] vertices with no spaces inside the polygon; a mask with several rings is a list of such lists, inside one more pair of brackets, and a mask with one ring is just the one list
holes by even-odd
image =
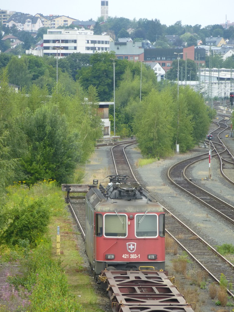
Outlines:
{"label": "left front windscreen of the red locomotive, white-framed with pale blind", "polygon": [[105,214],[104,216],[104,236],[126,237],[127,236],[127,216],[124,214]]}

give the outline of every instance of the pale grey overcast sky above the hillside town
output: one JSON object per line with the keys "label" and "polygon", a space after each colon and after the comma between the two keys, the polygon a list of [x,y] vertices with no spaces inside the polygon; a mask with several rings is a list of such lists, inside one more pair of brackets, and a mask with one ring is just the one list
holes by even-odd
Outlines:
{"label": "pale grey overcast sky above the hillside town", "polygon": [[[100,0],[89,1],[18,1],[5,2],[1,9],[19,11],[35,15],[66,15],[78,20],[96,20],[100,16]],[[109,16],[126,17],[138,20],[139,18],[159,19],[167,26],[181,20],[182,24],[202,27],[213,24],[225,23],[227,20],[234,22],[233,0],[197,0],[197,1],[155,1],[155,0],[109,0]]]}

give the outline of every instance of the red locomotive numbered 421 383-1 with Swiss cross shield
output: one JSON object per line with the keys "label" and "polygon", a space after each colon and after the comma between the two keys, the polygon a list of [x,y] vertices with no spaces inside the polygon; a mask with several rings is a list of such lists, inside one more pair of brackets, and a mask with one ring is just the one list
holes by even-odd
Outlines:
{"label": "red locomotive numbered 421 383-1 with Swiss cross shield", "polygon": [[163,207],[125,175],[91,188],[85,202],[85,251],[95,280],[102,270],[164,270]]}

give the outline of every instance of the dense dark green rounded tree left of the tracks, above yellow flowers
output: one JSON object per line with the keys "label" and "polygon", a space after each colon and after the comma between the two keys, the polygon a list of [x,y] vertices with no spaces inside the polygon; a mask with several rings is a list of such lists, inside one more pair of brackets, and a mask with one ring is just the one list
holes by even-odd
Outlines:
{"label": "dense dark green rounded tree left of the tracks, above yellow flowers", "polygon": [[33,114],[28,110],[22,119],[29,152],[22,158],[27,184],[49,178],[58,183],[71,181],[79,160],[78,133],[68,131],[66,117],[56,105],[45,105]]}

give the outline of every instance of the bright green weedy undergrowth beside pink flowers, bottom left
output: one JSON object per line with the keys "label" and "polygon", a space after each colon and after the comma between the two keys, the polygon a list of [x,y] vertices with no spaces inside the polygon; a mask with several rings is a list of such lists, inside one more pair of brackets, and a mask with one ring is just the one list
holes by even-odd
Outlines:
{"label": "bright green weedy undergrowth beside pink flowers, bottom left", "polygon": [[83,312],[69,293],[61,261],[51,254],[51,241],[46,237],[38,240],[37,247],[21,259],[21,272],[8,278],[10,285],[27,294],[28,312]]}

